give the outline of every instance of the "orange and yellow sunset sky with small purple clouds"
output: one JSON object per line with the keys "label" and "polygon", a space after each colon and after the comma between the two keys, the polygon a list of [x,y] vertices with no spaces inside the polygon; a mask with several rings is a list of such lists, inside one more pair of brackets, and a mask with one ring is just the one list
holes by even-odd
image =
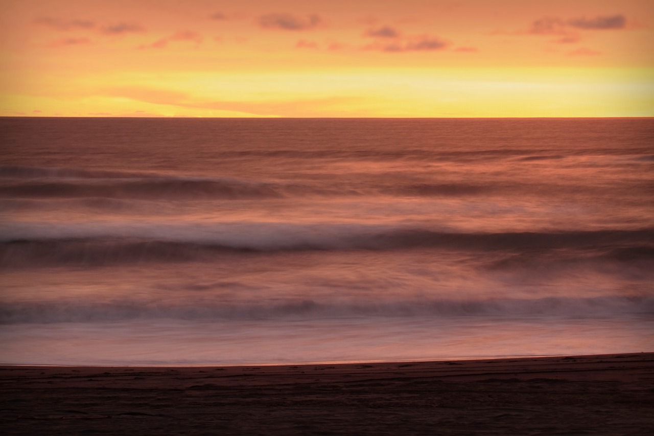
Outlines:
{"label": "orange and yellow sunset sky with small purple clouds", "polygon": [[3,0],[0,116],[652,117],[654,0]]}

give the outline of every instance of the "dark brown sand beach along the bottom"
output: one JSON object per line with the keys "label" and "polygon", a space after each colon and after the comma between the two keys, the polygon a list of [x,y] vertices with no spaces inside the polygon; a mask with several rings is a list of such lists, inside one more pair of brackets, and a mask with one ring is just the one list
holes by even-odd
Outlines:
{"label": "dark brown sand beach along the bottom", "polygon": [[0,374],[10,435],[654,434],[654,353]]}

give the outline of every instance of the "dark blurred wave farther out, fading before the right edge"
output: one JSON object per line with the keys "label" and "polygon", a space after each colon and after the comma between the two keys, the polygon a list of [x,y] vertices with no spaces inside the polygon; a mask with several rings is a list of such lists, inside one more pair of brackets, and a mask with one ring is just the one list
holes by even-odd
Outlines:
{"label": "dark blurred wave farther out, fading before the right edge", "polygon": [[293,196],[467,196],[504,191],[474,183],[312,185],[233,177],[181,177],[158,173],[0,166],[0,197],[9,199],[112,198],[139,200],[265,199]]}

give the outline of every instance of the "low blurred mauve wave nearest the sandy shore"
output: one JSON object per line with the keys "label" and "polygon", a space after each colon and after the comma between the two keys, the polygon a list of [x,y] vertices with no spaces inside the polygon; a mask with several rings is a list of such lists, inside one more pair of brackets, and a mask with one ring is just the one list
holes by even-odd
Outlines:
{"label": "low blurred mauve wave nearest the sandy shore", "polygon": [[652,314],[654,297],[547,297],[541,299],[286,300],[279,302],[211,301],[107,302],[80,300],[6,302],[0,324],[80,323],[128,319],[288,319],[445,316],[575,316]]}

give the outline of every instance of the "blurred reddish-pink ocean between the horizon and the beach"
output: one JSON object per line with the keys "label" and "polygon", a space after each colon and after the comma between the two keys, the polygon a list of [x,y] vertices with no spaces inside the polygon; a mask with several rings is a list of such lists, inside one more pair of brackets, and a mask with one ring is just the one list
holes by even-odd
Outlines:
{"label": "blurred reddish-pink ocean between the horizon and the beach", "polygon": [[0,132],[0,363],[654,350],[653,118]]}

